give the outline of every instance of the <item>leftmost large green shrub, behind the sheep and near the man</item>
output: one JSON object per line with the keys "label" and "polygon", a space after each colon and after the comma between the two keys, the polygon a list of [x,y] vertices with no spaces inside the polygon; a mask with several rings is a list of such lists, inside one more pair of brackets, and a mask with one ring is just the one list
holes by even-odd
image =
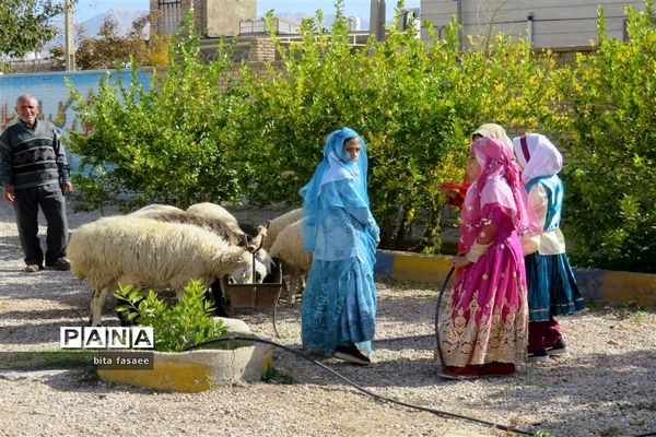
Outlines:
{"label": "leftmost large green shrub, behind the sheep and near the man", "polygon": [[[71,132],[70,139],[70,150],[82,156],[86,169],[75,182],[93,189],[87,199],[93,206],[125,192],[130,193],[128,209],[237,199],[239,172],[226,158],[221,135],[226,115],[242,101],[218,86],[231,50],[221,46],[218,59],[206,63],[198,42],[188,16],[169,46],[166,73],[153,72],[150,90],[137,82],[134,64],[129,84],[108,73],[90,96],[72,91],[75,110],[93,128]],[[104,174],[89,172],[97,166]]]}

